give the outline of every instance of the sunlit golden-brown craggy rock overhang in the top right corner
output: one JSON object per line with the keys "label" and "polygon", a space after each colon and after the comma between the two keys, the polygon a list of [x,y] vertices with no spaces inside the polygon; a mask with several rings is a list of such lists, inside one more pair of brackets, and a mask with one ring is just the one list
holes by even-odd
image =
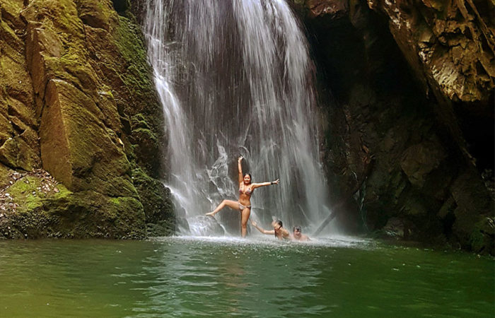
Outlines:
{"label": "sunlit golden-brown craggy rock overhang in the top right corner", "polygon": [[489,102],[487,92],[495,87],[493,4],[368,0],[368,5],[387,14],[392,35],[419,78],[448,100]]}

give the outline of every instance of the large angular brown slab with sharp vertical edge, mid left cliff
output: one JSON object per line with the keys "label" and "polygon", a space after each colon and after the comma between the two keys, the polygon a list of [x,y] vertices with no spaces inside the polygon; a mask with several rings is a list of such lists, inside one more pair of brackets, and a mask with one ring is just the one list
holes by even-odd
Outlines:
{"label": "large angular brown slab with sharp vertical edge, mid left cliff", "polygon": [[70,83],[50,81],[47,105],[40,126],[45,169],[73,191],[105,193],[118,189],[113,184],[122,177],[118,183],[125,187],[110,195],[133,196],[136,192],[125,177],[130,171],[129,161],[116,134],[100,120],[93,100]]}

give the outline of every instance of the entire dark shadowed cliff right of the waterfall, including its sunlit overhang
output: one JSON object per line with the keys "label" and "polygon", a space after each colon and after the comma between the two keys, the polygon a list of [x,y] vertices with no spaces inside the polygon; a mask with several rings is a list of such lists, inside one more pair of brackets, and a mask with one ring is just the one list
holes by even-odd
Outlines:
{"label": "entire dark shadowed cliff right of the waterfall, including its sunlit overhang", "polygon": [[350,230],[494,254],[494,6],[295,0]]}

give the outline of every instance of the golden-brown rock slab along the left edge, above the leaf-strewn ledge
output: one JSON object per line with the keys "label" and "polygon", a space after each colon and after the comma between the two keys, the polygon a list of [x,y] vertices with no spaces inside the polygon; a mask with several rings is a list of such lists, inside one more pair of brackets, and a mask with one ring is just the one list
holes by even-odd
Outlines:
{"label": "golden-brown rock slab along the left edge, above the leaf-strewn ledge", "polygon": [[[25,62],[26,23],[18,16],[23,1],[0,3],[0,165],[32,170],[40,167],[38,120],[33,83]],[[0,179],[6,179],[1,174]]]}

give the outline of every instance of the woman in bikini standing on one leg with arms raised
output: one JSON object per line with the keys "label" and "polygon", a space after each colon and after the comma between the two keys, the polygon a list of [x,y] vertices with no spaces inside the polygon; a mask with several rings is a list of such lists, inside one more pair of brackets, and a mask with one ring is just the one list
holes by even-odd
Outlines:
{"label": "woman in bikini standing on one leg with arms raised", "polygon": [[243,167],[240,163],[242,160],[243,156],[241,155],[237,160],[239,168],[239,201],[223,200],[222,203],[214,209],[214,211],[206,213],[206,216],[214,216],[216,213],[219,213],[222,208],[225,208],[225,206],[240,211],[240,233],[243,237],[245,237],[246,226],[248,225],[249,216],[251,214],[250,200],[252,192],[259,187],[264,187],[270,184],[279,184],[279,179],[272,182],[251,183],[251,175],[249,173],[243,175]]}

